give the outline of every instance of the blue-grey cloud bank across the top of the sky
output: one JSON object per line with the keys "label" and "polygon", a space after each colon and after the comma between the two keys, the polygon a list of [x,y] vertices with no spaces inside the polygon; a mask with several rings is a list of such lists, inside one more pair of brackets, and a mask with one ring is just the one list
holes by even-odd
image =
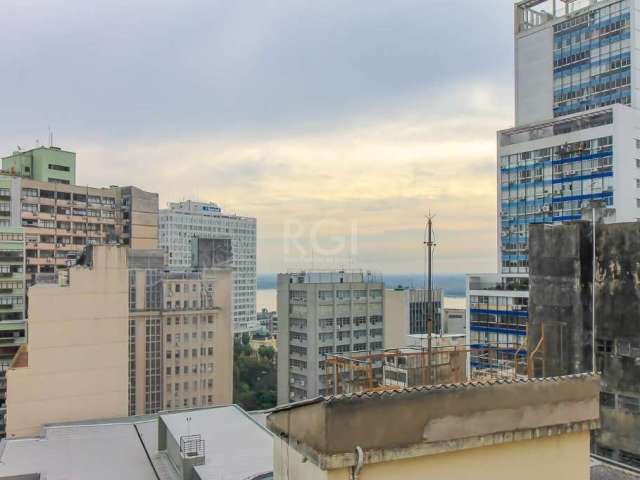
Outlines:
{"label": "blue-grey cloud bank across the top of the sky", "polygon": [[5,145],[326,131],[510,74],[504,0],[2,3]]}

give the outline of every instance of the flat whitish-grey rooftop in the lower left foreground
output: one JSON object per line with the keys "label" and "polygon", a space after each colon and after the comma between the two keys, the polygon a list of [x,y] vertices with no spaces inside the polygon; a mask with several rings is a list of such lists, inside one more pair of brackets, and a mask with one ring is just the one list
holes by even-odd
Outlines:
{"label": "flat whitish-grey rooftop in the lower left foreground", "polygon": [[0,443],[3,480],[271,480],[273,436],[231,405],[47,425]]}

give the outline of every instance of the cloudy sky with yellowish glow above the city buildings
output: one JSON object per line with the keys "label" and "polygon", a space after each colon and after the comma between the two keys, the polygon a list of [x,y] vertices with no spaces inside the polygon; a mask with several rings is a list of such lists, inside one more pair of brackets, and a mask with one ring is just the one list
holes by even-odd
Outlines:
{"label": "cloudy sky with yellowish glow above the city buildings", "polygon": [[496,270],[511,0],[2,0],[0,154],[258,222],[258,272]]}

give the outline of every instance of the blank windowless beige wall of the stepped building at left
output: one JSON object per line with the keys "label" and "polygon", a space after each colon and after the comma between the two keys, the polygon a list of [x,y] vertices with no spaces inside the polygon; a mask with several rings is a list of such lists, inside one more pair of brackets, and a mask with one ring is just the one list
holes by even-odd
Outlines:
{"label": "blank windowless beige wall of the stepped building at left", "polygon": [[127,414],[127,255],[88,248],[56,283],[29,289],[29,342],[7,371],[7,436]]}

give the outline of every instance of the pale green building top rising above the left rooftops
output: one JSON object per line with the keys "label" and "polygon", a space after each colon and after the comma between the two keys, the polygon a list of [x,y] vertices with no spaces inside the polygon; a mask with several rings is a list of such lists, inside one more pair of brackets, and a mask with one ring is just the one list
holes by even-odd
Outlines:
{"label": "pale green building top rising above the left rooftops", "polygon": [[76,183],[76,154],[58,147],[17,151],[2,159],[2,170],[41,182]]}

